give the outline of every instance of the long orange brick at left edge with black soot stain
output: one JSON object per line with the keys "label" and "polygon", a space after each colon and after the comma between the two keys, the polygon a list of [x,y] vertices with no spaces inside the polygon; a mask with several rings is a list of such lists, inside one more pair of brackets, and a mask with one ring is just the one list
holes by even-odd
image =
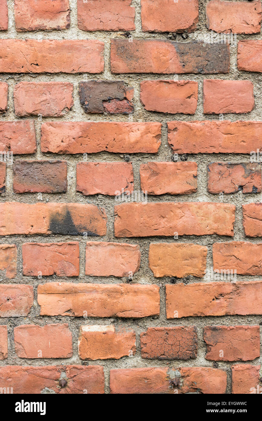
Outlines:
{"label": "long orange brick at left edge with black soot stain", "polygon": [[82,203],[0,203],[0,235],[105,235],[103,208]]}

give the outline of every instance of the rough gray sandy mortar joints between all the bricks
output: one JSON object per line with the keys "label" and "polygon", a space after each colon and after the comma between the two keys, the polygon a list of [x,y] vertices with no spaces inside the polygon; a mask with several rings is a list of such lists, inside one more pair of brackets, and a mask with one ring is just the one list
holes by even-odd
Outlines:
{"label": "rough gray sandy mortar joints between all the bricks", "polygon": [[[77,28],[77,0],[69,0],[71,6],[71,25],[70,28],[64,31],[39,31],[39,32],[16,32],[14,25],[14,18],[12,15],[13,11],[13,0],[8,0],[8,15],[9,15],[9,30],[0,33],[0,38],[37,38],[37,39],[97,39],[105,43],[104,59],[105,69],[103,74],[100,75],[89,75],[89,74],[42,74],[42,75],[10,75],[1,74],[0,80],[8,82],[9,93],[8,93],[8,112],[0,116],[1,121],[8,120],[21,120],[14,114],[13,107],[13,87],[20,81],[66,81],[74,84],[74,106],[70,112],[64,117],[43,117],[42,121],[158,121],[163,124],[161,146],[157,154],[130,154],[130,161],[133,165],[134,170],[134,189],[140,189],[140,177],[139,177],[139,166],[141,163],[148,161],[171,161],[172,150],[167,142],[167,121],[181,120],[181,121],[192,121],[192,120],[218,120],[218,115],[204,115],[203,114],[203,80],[207,79],[231,79],[231,80],[251,80],[254,83],[254,95],[255,95],[255,107],[254,110],[248,114],[228,114],[224,115],[224,120],[236,121],[236,120],[261,120],[262,104],[259,99],[262,93],[262,74],[251,73],[251,72],[240,72],[237,69],[237,48],[234,45],[230,45],[230,72],[227,74],[217,75],[195,75],[195,74],[182,74],[182,75],[157,75],[157,74],[142,74],[142,75],[113,75],[110,72],[110,39],[114,37],[123,38],[123,32],[85,32]],[[199,23],[197,24],[196,31],[189,34],[187,40],[183,40],[181,35],[177,35],[176,41],[188,42],[191,40],[203,40],[205,36],[209,34],[209,31],[205,26],[205,5],[208,0],[200,0],[199,2]],[[149,39],[167,39],[167,33],[151,34],[142,32],[141,20],[140,20],[140,7],[139,1],[133,0],[132,5],[135,7],[135,25],[136,30],[132,31],[132,37],[134,38],[149,38]],[[237,35],[237,40],[247,39],[260,39],[261,35]],[[135,112],[132,117],[128,115],[99,115],[99,114],[85,114],[84,109],[80,105],[79,101],[79,82],[87,80],[123,80],[127,85],[133,86],[134,91],[134,104]],[[175,79],[175,80],[196,80],[198,82],[198,107],[195,115],[170,115],[165,113],[148,112],[143,109],[139,99],[139,83],[142,80],[158,80],[158,79]],[[77,155],[60,155],[42,153],[40,148],[40,125],[41,123],[37,120],[37,117],[26,117],[25,120],[32,119],[35,121],[37,131],[37,153],[35,155],[16,155],[14,156],[14,162],[20,159],[29,160],[49,160],[58,159],[65,160],[68,163],[68,190],[64,194],[42,194],[43,203],[48,202],[60,202],[60,203],[93,203],[98,206],[103,206],[106,209],[108,217],[107,222],[107,234],[104,237],[77,237],[69,235],[49,235],[49,236],[16,236],[11,235],[7,237],[1,237],[0,243],[5,244],[16,244],[18,249],[18,272],[17,276],[13,280],[9,280],[2,273],[0,282],[6,284],[27,284],[34,286],[34,306],[32,307],[28,317],[10,317],[2,318],[0,323],[8,326],[8,359],[0,361],[0,366],[4,365],[68,365],[68,364],[83,364],[77,353],[77,341],[79,336],[80,325],[109,325],[114,324],[117,326],[122,325],[133,328],[136,332],[137,337],[137,352],[133,357],[123,357],[120,360],[96,360],[90,362],[84,362],[85,365],[103,365],[105,373],[105,392],[109,393],[109,371],[112,368],[138,368],[138,367],[166,367],[176,370],[180,366],[185,367],[211,367],[212,361],[205,360],[206,345],[203,341],[203,328],[206,325],[258,325],[262,324],[262,315],[260,316],[221,316],[221,317],[183,317],[181,319],[166,319],[165,310],[165,288],[166,283],[170,283],[169,277],[154,278],[153,273],[148,269],[148,248],[150,242],[193,242],[195,244],[206,245],[208,247],[207,255],[207,269],[212,267],[212,243],[223,242],[223,241],[249,241],[253,243],[261,242],[259,238],[247,238],[243,232],[242,226],[242,210],[241,205],[245,203],[251,203],[255,201],[262,202],[262,194],[245,194],[240,191],[233,195],[224,195],[224,203],[233,203],[236,205],[236,222],[234,229],[234,237],[223,237],[223,236],[183,236],[179,237],[178,240],[174,240],[172,237],[150,237],[150,238],[115,238],[114,237],[114,205],[116,204],[114,197],[96,195],[96,196],[83,196],[81,193],[76,192],[76,164],[83,160],[81,154]],[[131,120],[130,120],[131,119]],[[149,202],[187,202],[187,201],[204,201],[204,202],[220,202],[219,195],[212,195],[207,192],[207,164],[211,162],[232,162],[241,163],[249,162],[249,155],[245,154],[197,154],[188,155],[188,161],[196,161],[198,163],[198,190],[196,193],[191,195],[161,195],[161,196],[148,196]],[[100,152],[96,154],[90,154],[87,157],[88,161],[124,161],[124,155],[114,154],[109,152]],[[180,157],[179,157],[180,160]],[[1,195],[1,201],[18,201],[23,203],[37,203],[36,194],[15,194],[12,189],[13,175],[12,165],[7,167],[7,180],[6,180],[6,193]],[[160,286],[161,306],[160,315],[154,317],[146,317],[142,319],[122,319],[122,318],[99,318],[99,317],[49,317],[39,316],[40,306],[37,304],[37,285],[45,282],[94,282],[94,283],[119,283],[126,282],[127,278],[116,278],[116,277],[91,277],[85,275],[85,242],[86,240],[91,241],[115,241],[115,242],[128,242],[130,244],[139,244],[142,258],[141,266],[138,273],[133,277],[135,283],[150,283]],[[24,242],[67,242],[67,241],[79,241],[80,247],[80,275],[79,277],[61,278],[57,276],[42,277],[42,280],[38,280],[36,277],[26,277],[22,274],[22,252],[21,246]],[[262,280],[262,276],[241,276],[237,275],[237,280]],[[209,279],[191,277],[190,282],[208,282]],[[183,279],[177,280],[177,282],[183,282]],[[229,282],[229,281],[228,281]],[[16,356],[14,345],[13,345],[13,328],[22,324],[37,324],[45,325],[54,322],[65,322],[69,324],[69,329],[73,335],[73,356],[66,359],[25,359]],[[145,360],[140,355],[140,340],[139,335],[145,331],[148,327],[154,326],[182,326],[182,325],[195,325],[198,330],[198,356],[194,360],[175,360],[175,361],[163,361],[163,360]],[[257,358],[251,362],[251,364],[261,364],[262,359]],[[242,363],[242,362],[241,362]],[[245,363],[245,362],[243,362]],[[250,362],[249,362],[250,363]],[[218,362],[217,366],[220,369],[228,371],[228,387],[227,393],[231,390],[231,365],[232,362]],[[47,391],[48,392],[48,391]],[[50,393],[50,391],[48,392]]]}

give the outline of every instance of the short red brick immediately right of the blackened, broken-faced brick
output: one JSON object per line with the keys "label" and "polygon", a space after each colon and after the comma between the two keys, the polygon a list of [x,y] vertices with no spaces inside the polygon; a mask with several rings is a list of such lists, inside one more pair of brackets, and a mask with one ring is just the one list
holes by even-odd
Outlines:
{"label": "short red brick immediately right of the blackened, broken-faced brick", "polygon": [[145,80],[140,100],[148,111],[195,114],[198,83],[191,80]]}

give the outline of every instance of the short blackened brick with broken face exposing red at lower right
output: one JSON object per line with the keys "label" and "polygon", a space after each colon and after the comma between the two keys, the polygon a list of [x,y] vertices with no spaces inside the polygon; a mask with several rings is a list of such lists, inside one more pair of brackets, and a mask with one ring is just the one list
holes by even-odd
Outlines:
{"label": "short blackened brick with broken face exposing red at lower right", "polygon": [[130,114],[134,89],[123,81],[90,80],[79,83],[80,104],[86,113]]}

